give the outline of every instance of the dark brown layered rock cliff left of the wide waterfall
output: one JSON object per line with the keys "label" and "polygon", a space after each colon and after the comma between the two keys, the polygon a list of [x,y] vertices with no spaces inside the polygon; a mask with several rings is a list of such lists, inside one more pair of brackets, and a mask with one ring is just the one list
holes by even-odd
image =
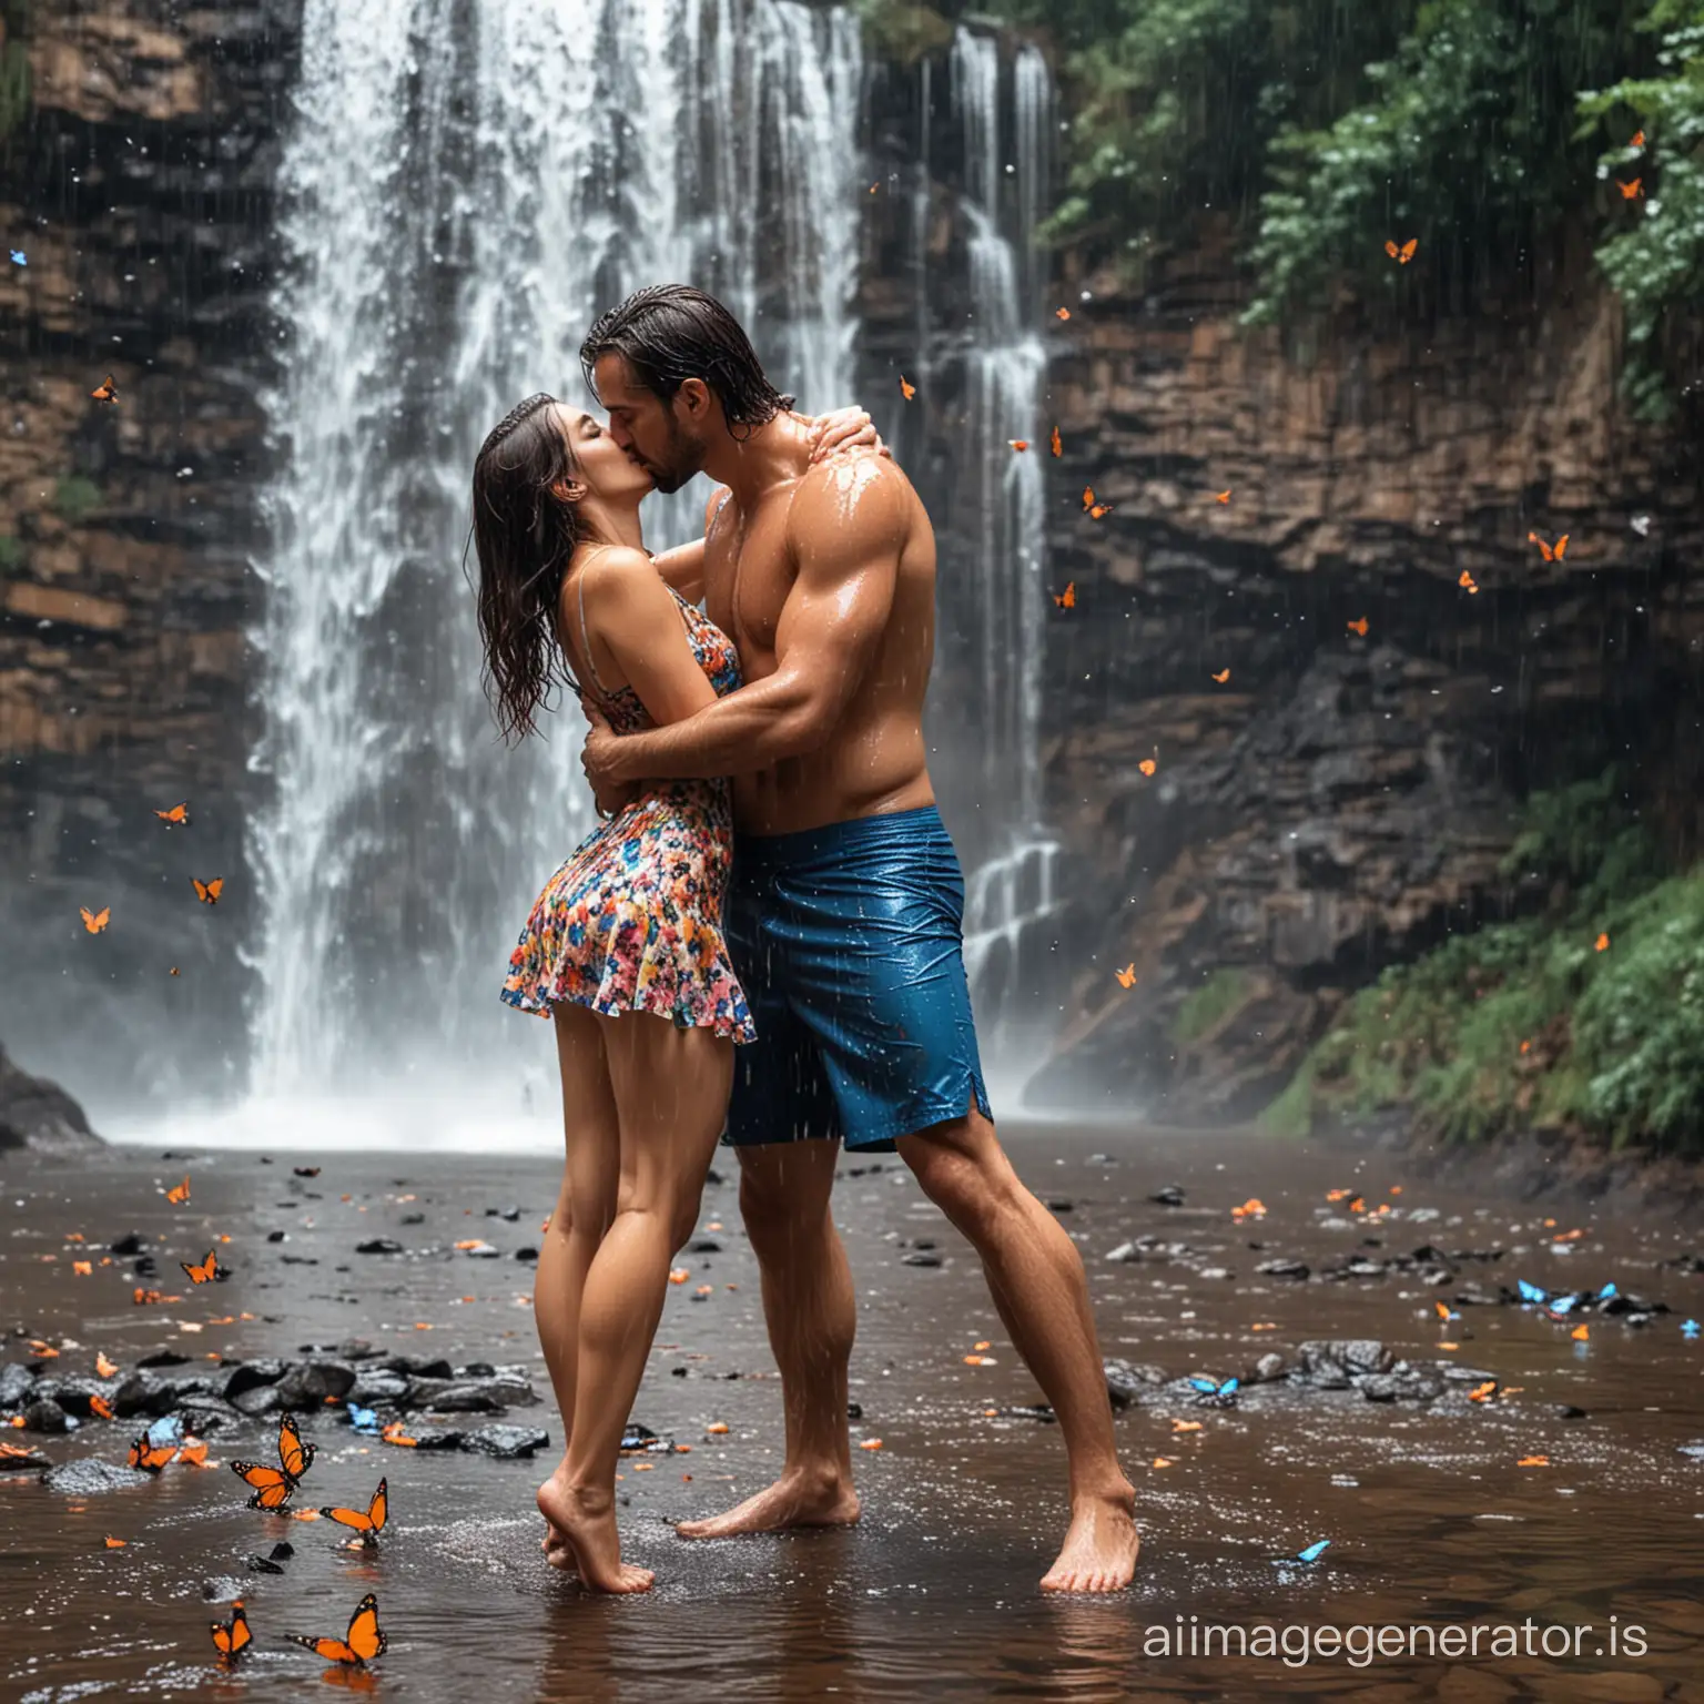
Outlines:
{"label": "dark brown layered rock cliff left of the wide waterfall", "polygon": [[[206,1080],[239,1039],[240,889],[215,918],[189,878],[240,849],[298,12],[36,5],[0,177],[26,257],[0,271],[0,1031],[114,1082],[162,1055]],[[167,830],[181,799],[194,826]],[[80,907],[111,908],[99,937]]]}

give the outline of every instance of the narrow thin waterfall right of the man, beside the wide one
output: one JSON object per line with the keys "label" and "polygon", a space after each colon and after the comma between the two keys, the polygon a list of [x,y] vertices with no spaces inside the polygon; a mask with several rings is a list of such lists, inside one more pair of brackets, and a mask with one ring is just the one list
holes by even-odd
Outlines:
{"label": "narrow thin waterfall right of the man, beside the wide one", "polygon": [[[1062,905],[1039,758],[1050,423],[1041,414],[1046,305],[1034,232],[1051,182],[1053,80],[1034,46],[1021,46],[1007,66],[995,37],[959,29],[951,94],[971,300],[961,477],[973,492],[976,714],[992,826],[987,861],[966,884],[964,964],[985,1056],[1021,1062],[1007,1070],[1010,1097],[1053,1031],[1050,954]],[[1014,452],[1012,440],[1029,450]]]}

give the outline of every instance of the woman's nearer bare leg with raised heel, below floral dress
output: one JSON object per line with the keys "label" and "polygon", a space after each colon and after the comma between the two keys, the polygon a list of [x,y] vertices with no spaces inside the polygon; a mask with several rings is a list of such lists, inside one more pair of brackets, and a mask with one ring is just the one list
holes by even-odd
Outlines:
{"label": "woman's nearer bare leg with raised heel, below floral dress", "polygon": [[567,1535],[588,1586],[644,1592],[649,1569],[622,1563],[615,1465],[663,1314],[670,1259],[697,1222],[734,1050],[711,1029],[676,1029],[649,1012],[602,1022],[620,1116],[620,1186],[581,1295],[574,1428],[567,1460],[545,1488],[545,1513]]}

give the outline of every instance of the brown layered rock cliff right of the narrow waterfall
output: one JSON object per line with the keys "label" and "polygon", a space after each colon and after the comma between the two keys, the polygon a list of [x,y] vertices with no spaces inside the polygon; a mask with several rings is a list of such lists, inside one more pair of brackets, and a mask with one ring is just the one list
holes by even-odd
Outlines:
{"label": "brown layered rock cliff right of the narrow waterfall", "polygon": [[1234,278],[1213,247],[1137,298],[1070,278],[1051,370],[1079,970],[1036,1091],[1177,1120],[1252,1113],[1346,992],[1520,903],[1528,789],[1631,762],[1673,854],[1704,847],[1695,446],[1617,409],[1588,269],[1312,360],[1235,327]]}

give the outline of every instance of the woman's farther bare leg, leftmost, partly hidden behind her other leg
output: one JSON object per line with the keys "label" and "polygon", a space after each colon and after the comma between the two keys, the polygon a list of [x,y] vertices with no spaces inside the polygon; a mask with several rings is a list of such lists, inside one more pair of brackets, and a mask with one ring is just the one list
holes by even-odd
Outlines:
{"label": "woman's farther bare leg, leftmost, partly hidden behind her other leg", "polygon": [[[620,1179],[620,1125],[598,1016],[562,1002],[554,1009],[556,1053],[562,1068],[562,1135],[567,1164],[562,1189],[550,1210],[550,1229],[538,1249],[533,1275],[533,1317],[538,1346],[550,1370],[550,1389],[562,1416],[562,1462],[574,1426],[574,1370],[579,1356],[579,1298],[591,1258],[615,1217]],[[557,1472],[561,1474],[561,1467]],[[544,1508],[540,1498],[540,1508]],[[557,1568],[573,1566],[567,1540],[545,1515],[544,1551]]]}

